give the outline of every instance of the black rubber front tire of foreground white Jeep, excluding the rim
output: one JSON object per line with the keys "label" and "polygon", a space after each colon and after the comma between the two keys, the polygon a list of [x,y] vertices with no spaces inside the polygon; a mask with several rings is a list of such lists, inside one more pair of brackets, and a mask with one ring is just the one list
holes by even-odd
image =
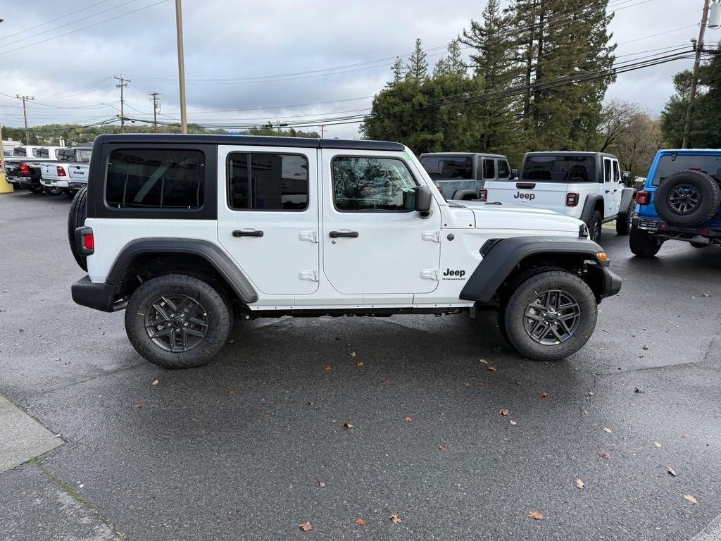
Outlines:
{"label": "black rubber front tire of foreground white Jeep, excluding the rim", "polygon": [[[578,305],[573,332],[564,341],[553,344],[537,342],[526,330],[526,322],[530,321],[526,316],[528,307],[547,291],[561,291]],[[544,271],[523,281],[511,294],[505,307],[505,330],[510,345],[528,359],[558,361],[585,346],[596,328],[597,318],[596,296],[588,283],[568,271]]]}

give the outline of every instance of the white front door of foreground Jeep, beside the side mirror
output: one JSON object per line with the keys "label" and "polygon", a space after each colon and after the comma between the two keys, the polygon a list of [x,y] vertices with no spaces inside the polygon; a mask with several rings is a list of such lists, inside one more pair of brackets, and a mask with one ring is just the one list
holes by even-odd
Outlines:
{"label": "white front door of foreground Jeep, beside the side mirror", "polygon": [[[413,210],[420,171],[400,153],[322,149],[323,272],[340,294],[402,296],[438,285],[441,214]],[[365,301],[364,301],[365,302]]]}

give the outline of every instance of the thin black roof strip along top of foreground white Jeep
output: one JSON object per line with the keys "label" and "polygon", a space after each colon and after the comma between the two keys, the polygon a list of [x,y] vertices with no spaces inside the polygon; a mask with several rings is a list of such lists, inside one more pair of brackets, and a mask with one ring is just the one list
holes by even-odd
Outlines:
{"label": "thin black roof strip along top of foreground white Jeep", "polygon": [[404,146],[389,141],[351,141],[343,139],[317,139],[302,137],[268,137],[241,135],[180,135],[173,133],[123,133],[105,134],[95,138],[95,144],[105,143],[159,143],[159,144],[218,144],[250,146],[288,146],[311,149],[349,149],[402,151]]}

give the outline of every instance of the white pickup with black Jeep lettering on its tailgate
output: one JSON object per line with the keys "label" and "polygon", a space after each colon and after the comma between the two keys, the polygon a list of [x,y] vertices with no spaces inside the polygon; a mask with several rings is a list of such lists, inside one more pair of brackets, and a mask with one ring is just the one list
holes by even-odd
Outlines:
{"label": "white pickup with black Jeep lettering on its tailgate", "polygon": [[613,154],[527,152],[516,179],[486,181],[481,201],[518,203],[583,220],[598,242],[601,224],[616,220],[616,233],[629,234],[636,190]]}

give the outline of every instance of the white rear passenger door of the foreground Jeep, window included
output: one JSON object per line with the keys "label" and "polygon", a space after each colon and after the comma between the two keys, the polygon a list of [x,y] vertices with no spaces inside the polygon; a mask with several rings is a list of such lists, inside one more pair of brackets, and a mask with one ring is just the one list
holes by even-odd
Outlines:
{"label": "white rear passenger door of the foreground Jeep, window included", "polygon": [[317,149],[218,146],[218,240],[261,294],[318,289]]}

